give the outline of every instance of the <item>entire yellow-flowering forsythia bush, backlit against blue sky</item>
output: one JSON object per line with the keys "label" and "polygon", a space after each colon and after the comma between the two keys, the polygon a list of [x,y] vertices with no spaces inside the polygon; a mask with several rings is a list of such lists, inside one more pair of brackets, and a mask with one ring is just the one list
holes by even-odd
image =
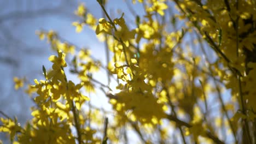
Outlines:
{"label": "entire yellow-flowering forsythia bush, backlit against blue sky", "polygon": [[[256,143],[255,0],[132,0],[142,9],[124,2],[132,13],[115,19],[107,2],[97,2],[103,18],[80,4],[73,26],[95,31],[108,64],[54,31],[38,31],[57,54],[50,70],[43,66],[44,79],[26,89],[33,118],[20,125],[1,111],[0,131],[11,142],[127,143],[136,133],[142,143]],[[68,79],[67,65],[80,82]],[[98,70],[107,71],[108,83],[94,77]],[[98,91],[113,117],[83,94]]]}

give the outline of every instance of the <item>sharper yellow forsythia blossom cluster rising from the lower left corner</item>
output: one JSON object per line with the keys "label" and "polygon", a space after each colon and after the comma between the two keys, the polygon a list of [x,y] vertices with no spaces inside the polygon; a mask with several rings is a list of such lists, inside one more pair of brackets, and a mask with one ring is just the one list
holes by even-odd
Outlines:
{"label": "sharper yellow forsythia blossom cluster rising from the lower left corner", "polygon": [[[67,81],[64,68],[67,67],[65,53],[57,51],[57,56],[50,56],[49,61],[53,62],[52,69],[46,72],[43,67],[45,80],[34,80],[35,85],[30,86],[36,92],[34,102],[37,106],[32,107],[33,119],[27,123],[25,128],[9,117],[1,118],[3,125],[0,131],[9,133],[10,139],[14,140],[15,135],[19,143],[75,143],[76,136],[71,128],[75,127],[79,134],[79,141],[98,142],[94,138],[96,131],[89,127],[81,127],[82,121],[79,111],[88,97],[79,92],[84,82],[75,85]],[[18,85],[20,82],[15,78]],[[19,84],[20,86],[20,84]],[[18,87],[18,86],[17,86]]]}

